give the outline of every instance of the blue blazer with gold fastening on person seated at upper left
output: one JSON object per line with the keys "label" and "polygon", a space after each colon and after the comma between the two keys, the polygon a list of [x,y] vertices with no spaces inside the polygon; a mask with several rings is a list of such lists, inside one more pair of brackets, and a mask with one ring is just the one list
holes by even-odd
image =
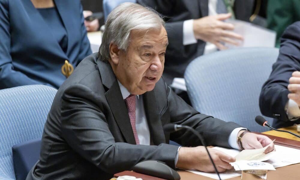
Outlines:
{"label": "blue blazer with gold fastening on person seated at upper left", "polygon": [[79,0],[54,0],[67,31],[67,51],[31,0],[0,0],[0,89],[44,84],[58,88],[66,79],[61,66],[75,67],[91,54]]}

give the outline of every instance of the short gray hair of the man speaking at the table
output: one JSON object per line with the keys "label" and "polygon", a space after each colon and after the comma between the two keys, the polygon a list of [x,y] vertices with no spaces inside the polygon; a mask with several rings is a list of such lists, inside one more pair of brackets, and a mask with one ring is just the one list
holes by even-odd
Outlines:
{"label": "short gray hair of the man speaking at the table", "polygon": [[161,26],[164,27],[165,22],[152,8],[130,2],[120,4],[107,16],[98,56],[102,55],[102,61],[110,59],[111,42],[127,51],[133,29],[161,29]]}

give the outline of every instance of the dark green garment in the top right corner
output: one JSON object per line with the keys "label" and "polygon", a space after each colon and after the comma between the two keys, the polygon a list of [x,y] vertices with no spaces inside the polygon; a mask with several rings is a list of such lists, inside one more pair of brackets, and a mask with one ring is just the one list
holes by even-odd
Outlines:
{"label": "dark green garment in the top right corner", "polygon": [[299,20],[299,0],[268,0],[267,27],[277,33],[276,47],[280,46],[280,37],[287,26]]}

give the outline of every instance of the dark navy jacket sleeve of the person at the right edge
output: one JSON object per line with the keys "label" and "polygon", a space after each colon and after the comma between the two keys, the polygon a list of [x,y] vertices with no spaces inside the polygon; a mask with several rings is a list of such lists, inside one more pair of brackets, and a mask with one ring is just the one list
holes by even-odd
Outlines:
{"label": "dark navy jacket sleeve of the person at the right edge", "polygon": [[282,128],[298,121],[289,121],[284,107],[288,102],[289,78],[300,71],[300,21],[289,26],[282,35],[279,56],[273,64],[269,79],[262,86],[259,107],[263,115],[275,118],[273,126]]}

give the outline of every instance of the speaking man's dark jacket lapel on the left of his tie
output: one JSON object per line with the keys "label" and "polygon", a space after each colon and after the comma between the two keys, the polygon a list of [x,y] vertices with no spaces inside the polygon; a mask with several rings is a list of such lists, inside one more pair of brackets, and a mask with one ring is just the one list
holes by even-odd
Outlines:
{"label": "speaking man's dark jacket lapel on the left of his tie", "polygon": [[100,71],[102,83],[109,89],[105,93],[105,97],[113,113],[113,116],[126,142],[130,144],[136,144],[130,119],[128,116],[128,110],[123,100],[116,76],[114,75],[109,63],[102,62],[98,58],[97,64]]}

